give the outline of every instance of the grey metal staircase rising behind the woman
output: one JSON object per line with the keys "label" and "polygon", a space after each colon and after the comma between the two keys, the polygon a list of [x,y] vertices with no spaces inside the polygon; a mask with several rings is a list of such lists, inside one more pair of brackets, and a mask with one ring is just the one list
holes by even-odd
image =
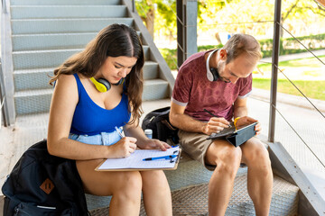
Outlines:
{"label": "grey metal staircase rising behind the woman", "polygon": [[143,41],[143,100],[169,97],[172,73],[131,8],[120,0],[11,0],[15,114],[49,112],[53,69],[112,23],[134,27]]}

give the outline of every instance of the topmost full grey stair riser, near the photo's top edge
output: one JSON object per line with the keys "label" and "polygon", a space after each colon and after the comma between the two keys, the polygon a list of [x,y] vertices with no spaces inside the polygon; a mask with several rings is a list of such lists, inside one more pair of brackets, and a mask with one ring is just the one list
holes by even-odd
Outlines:
{"label": "topmost full grey stair riser, near the photo's top edge", "polygon": [[117,18],[127,15],[125,5],[17,5],[10,8],[12,19]]}

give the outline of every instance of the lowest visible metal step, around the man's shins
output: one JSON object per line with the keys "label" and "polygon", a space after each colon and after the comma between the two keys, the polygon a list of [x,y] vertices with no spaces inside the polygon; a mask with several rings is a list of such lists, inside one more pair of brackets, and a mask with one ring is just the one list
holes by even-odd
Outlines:
{"label": "lowest visible metal step, around the man's shins", "polygon": [[[225,215],[255,215],[254,204],[246,189],[246,178],[247,175],[237,175]],[[274,176],[270,215],[298,215],[298,191],[297,186]],[[172,209],[173,215],[207,215],[208,184],[172,192]]]}

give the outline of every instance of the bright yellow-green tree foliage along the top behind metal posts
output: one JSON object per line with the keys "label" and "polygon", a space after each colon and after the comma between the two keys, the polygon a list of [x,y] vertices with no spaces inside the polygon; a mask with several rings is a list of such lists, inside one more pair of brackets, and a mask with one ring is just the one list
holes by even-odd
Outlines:
{"label": "bright yellow-green tree foliage along the top behind metal posts", "polygon": [[[176,38],[176,0],[135,0],[138,14],[144,22],[154,9],[154,35]],[[325,16],[316,0],[282,1],[282,25],[294,35],[312,34]],[[198,33],[211,36],[218,32],[243,32],[257,38],[272,37],[274,0],[198,0]],[[285,33],[285,31],[283,31]],[[218,38],[217,38],[218,39]]]}

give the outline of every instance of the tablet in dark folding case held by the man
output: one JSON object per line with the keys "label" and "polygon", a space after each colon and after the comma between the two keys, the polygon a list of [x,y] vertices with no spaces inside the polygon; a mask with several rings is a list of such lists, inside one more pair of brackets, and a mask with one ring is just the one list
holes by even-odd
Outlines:
{"label": "tablet in dark folding case held by the man", "polygon": [[234,126],[229,129],[222,130],[220,133],[212,133],[207,139],[226,139],[233,146],[238,147],[246,140],[255,136],[255,125],[257,122],[247,125],[244,128],[236,130]]}

